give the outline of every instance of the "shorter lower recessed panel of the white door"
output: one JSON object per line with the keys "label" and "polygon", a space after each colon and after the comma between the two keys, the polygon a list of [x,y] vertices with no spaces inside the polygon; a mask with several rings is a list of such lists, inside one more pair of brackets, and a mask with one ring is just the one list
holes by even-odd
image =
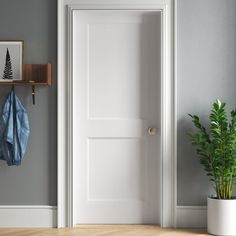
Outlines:
{"label": "shorter lower recessed panel of the white door", "polygon": [[141,201],[145,175],[144,146],[141,139],[89,139],[88,199]]}

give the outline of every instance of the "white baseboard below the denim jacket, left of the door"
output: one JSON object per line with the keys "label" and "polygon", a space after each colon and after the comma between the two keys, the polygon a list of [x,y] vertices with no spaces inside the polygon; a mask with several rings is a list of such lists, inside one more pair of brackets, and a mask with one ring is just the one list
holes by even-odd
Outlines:
{"label": "white baseboard below the denim jacket, left of the door", "polygon": [[0,206],[0,227],[57,227],[57,207]]}

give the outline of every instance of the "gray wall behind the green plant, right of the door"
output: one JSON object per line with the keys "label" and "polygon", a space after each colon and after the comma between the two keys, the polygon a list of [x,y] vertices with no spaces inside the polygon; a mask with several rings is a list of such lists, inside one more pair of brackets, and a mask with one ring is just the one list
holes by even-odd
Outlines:
{"label": "gray wall behind the green plant, right of the door", "polygon": [[194,149],[188,113],[206,124],[220,98],[236,107],[236,1],[178,0],[178,205],[203,205],[211,192]]}

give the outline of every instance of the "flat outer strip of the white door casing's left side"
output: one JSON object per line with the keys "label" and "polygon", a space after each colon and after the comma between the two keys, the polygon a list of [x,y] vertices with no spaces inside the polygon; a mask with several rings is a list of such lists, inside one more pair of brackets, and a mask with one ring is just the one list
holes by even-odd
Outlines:
{"label": "flat outer strip of the white door casing's left side", "polygon": [[66,222],[66,83],[64,79],[64,29],[63,0],[58,0],[58,82],[57,82],[57,226],[63,227]]}

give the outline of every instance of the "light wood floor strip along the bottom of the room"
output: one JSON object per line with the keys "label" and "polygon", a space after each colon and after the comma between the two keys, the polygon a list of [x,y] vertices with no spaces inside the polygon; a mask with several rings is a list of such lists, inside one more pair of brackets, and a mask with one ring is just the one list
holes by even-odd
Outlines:
{"label": "light wood floor strip along the bottom of the room", "polygon": [[0,229],[6,236],[187,236],[208,235],[203,229],[161,229],[153,225],[82,225],[74,229]]}

